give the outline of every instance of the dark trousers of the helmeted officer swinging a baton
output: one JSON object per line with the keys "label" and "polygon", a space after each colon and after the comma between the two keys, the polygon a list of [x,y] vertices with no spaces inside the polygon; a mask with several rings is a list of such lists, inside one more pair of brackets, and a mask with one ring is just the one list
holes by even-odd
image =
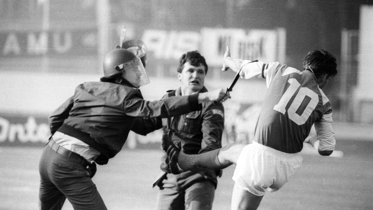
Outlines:
{"label": "dark trousers of the helmeted officer swinging a baton", "polygon": [[60,210],[66,198],[74,209],[107,209],[84,162],[80,156],[62,155],[45,146],[39,163],[42,210]]}

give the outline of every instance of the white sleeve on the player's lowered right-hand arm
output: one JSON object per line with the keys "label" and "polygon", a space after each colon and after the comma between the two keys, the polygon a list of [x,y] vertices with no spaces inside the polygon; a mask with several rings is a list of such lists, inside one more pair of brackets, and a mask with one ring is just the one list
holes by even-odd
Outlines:
{"label": "white sleeve on the player's lowered right-hand arm", "polygon": [[334,150],[335,138],[332,128],[332,113],[323,114],[321,120],[315,122],[317,139],[319,140],[319,150]]}

